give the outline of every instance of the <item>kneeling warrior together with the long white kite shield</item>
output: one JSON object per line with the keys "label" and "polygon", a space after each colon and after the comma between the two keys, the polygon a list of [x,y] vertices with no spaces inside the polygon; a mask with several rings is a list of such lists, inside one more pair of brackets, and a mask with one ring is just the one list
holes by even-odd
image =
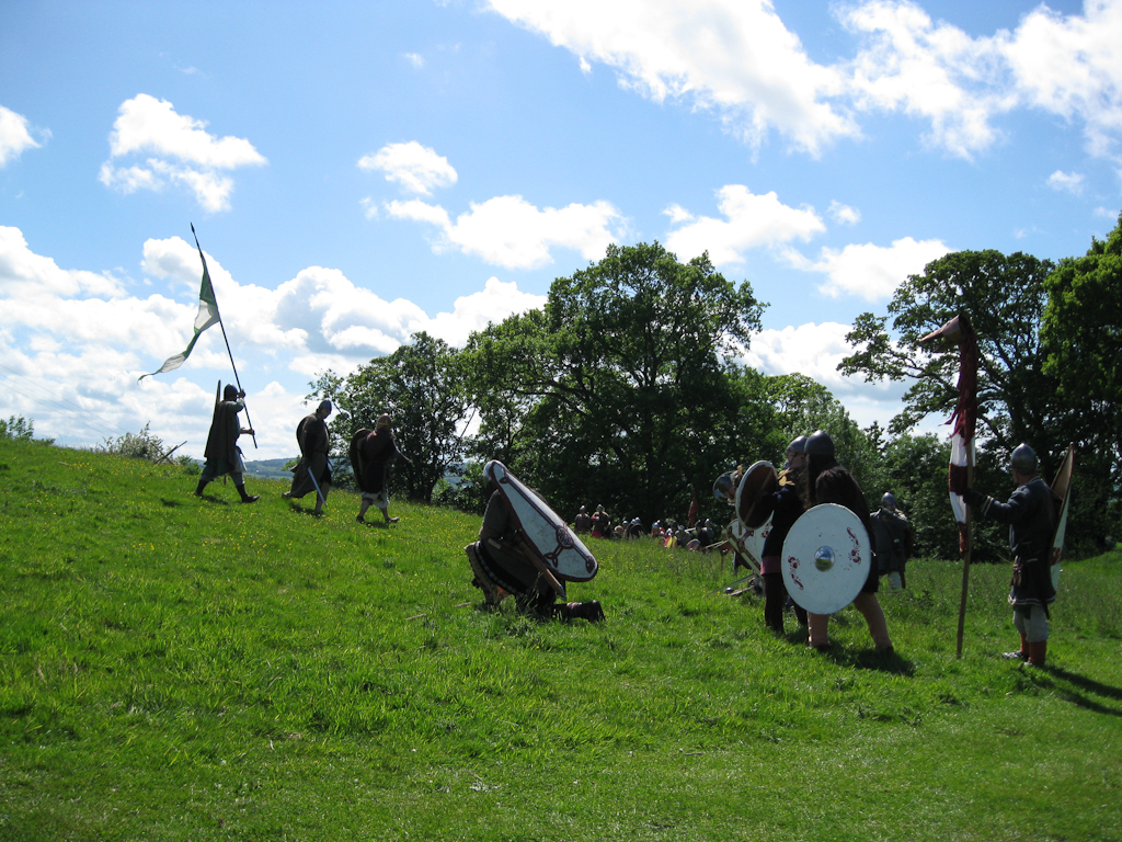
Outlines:
{"label": "kneeling warrior together with the long white kite shield", "polygon": [[[494,607],[513,595],[521,611],[543,620],[604,620],[597,601],[567,602],[565,582],[587,582],[596,559],[552,509],[498,461],[484,466],[495,491],[487,502],[479,540],[463,548],[471,584]],[[554,604],[560,597],[561,604]]]}

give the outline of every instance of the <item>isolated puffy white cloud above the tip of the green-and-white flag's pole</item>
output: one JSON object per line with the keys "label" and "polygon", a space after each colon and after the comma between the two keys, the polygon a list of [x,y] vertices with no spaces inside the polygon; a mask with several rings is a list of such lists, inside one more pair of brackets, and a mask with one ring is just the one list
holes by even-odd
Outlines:
{"label": "isolated puffy white cloud above the tip of the green-and-white flag's pole", "polygon": [[[110,161],[98,180],[110,190],[129,194],[160,191],[169,184],[186,186],[208,212],[230,209],[233,180],[220,171],[268,163],[243,138],[217,138],[204,120],[178,115],[171,102],[146,93],[121,103],[109,135]],[[116,158],[150,153],[144,163],[116,166]],[[177,163],[168,161],[176,159]]]}

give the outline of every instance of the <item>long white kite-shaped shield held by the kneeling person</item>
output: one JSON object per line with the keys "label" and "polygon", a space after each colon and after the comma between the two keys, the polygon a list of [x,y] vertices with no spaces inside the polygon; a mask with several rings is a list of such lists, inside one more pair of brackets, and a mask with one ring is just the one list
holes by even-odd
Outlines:
{"label": "long white kite-shaped shield held by the kneeling person", "polygon": [[592,553],[536,492],[523,485],[500,461],[484,465],[484,475],[498,486],[527,539],[527,549],[559,579],[588,582],[596,576],[598,567]]}

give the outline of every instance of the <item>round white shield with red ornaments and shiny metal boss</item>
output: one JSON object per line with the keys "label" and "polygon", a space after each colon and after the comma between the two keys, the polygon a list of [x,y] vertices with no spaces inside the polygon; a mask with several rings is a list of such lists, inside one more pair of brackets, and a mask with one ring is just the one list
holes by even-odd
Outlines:
{"label": "round white shield with red ornaments and shiny metal boss", "polygon": [[800,515],[783,542],[783,584],[812,614],[833,614],[853,602],[868,579],[873,550],[856,514],[821,503]]}

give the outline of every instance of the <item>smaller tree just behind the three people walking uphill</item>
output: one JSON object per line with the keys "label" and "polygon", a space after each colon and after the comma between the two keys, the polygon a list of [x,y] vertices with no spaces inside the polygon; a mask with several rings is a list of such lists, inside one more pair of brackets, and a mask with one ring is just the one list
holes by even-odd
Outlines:
{"label": "smaller tree just behind the three people walking uphill", "polygon": [[330,429],[337,466],[347,472],[350,437],[375,428],[378,415],[394,420],[394,437],[410,461],[394,464],[390,488],[410,500],[432,501],[433,488],[461,466],[470,404],[459,354],[442,339],[414,333],[387,357],[370,360],[347,377],[327,372],[310,399],[330,399],[339,412]]}

